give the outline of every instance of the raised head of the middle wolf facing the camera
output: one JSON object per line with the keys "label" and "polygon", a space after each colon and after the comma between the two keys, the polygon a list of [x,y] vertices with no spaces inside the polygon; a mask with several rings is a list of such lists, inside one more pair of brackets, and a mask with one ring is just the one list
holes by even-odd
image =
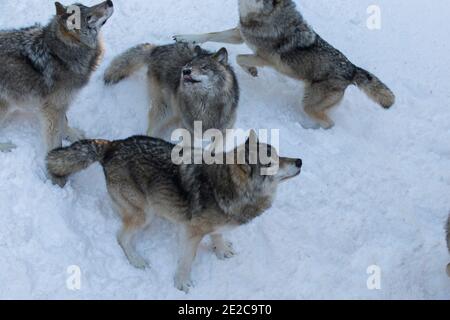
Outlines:
{"label": "raised head of the middle wolf facing the camera", "polygon": [[222,48],[214,54],[205,54],[198,46],[194,50],[195,58],[182,69],[183,89],[211,92],[226,86],[230,81],[227,49]]}

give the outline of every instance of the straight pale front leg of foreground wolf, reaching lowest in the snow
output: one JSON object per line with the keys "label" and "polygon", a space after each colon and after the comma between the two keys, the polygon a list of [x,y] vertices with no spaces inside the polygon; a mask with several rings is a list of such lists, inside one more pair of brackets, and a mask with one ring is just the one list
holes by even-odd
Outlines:
{"label": "straight pale front leg of foreground wolf, reaching lowest in the snow", "polygon": [[181,257],[178,261],[178,268],[175,275],[175,288],[180,291],[189,293],[189,290],[193,287],[191,280],[192,263],[197,255],[198,246],[203,236],[203,234],[199,234],[189,227],[185,227],[180,234]]}

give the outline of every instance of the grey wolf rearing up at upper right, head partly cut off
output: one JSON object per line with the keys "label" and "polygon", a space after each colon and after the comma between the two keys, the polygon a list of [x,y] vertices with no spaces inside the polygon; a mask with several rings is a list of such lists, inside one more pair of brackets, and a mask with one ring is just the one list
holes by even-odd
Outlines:
{"label": "grey wolf rearing up at upper right, head partly cut off", "polygon": [[208,41],[246,43],[253,54],[239,55],[237,63],[250,75],[269,66],[305,83],[304,111],[318,124],[334,126],[328,111],[338,105],[349,85],[357,85],[372,100],[389,109],[395,95],[370,72],[355,66],[322,39],[296,9],[292,0],[239,0],[240,23],[224,32],[176,35],[174,40],[201,44]]}

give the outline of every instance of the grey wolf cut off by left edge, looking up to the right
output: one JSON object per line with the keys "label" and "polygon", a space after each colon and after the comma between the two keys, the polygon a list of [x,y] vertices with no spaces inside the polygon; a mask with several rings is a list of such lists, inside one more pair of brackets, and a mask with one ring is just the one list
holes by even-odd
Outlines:
{"label": "grey wolf cut off by left edge, looking up to the right", "polygon": [[13,107],[37,105],[47,151],[64,138],[75,142],[83,136],[69,127],[66,112],[100,63],[100,29],[114,12],[110,0],[93,7],[55,6],[46,26],[0,31],[0,126]]}

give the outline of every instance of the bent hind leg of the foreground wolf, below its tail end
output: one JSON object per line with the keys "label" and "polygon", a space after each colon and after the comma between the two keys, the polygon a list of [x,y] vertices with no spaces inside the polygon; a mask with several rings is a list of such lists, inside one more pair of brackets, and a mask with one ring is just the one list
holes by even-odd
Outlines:
{"label": "bent hind leg of the foreground wolf, below its tail end", "polygon": [[117,240],[131,265],[138,269],[146,269],[149,264],[136,251],[134,242],[136,236],[150,225],[153,216],[149,216],[143,210],[137,208],[120,208],[119,210],[121,211],[123,226]]}

